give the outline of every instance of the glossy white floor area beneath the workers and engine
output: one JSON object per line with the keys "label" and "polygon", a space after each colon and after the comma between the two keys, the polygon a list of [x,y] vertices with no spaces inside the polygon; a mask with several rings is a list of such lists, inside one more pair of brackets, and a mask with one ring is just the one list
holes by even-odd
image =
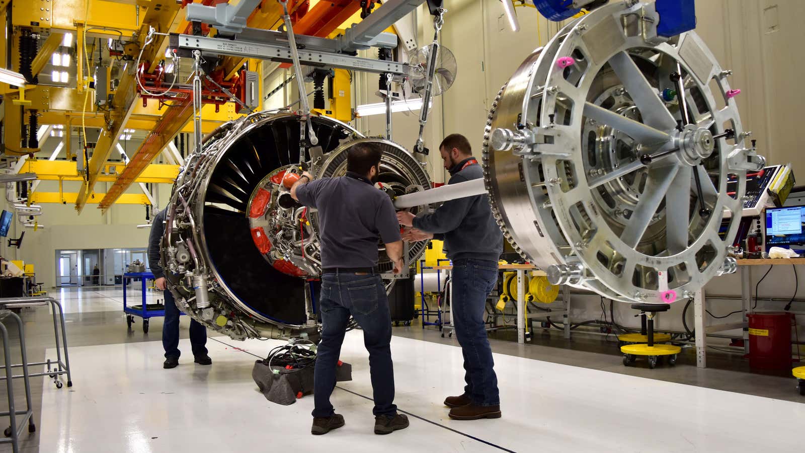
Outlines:
{"label": "glossy white floor area beneath the workers and engine", "polygon": [[[353,381],[332,401],[346,426],[310,434],[312,397],[275,405],[251,379],[254,355],[281,342],[208,341],[212,367],[162,369],[159,342],[74,347],[72,389],[43,383],[40,451],[801,451],[805,405],[588,368],[495,355],[503,418],[456,422],[442,401],[460,392],[458,347],[394,337],[400,409],[411,427],[373,434],[360,331],[341,359]],[[48,352],[50,354],[51,352]],[[356,395],[357,393],[358,395]],[[481,442],[484,441],[484,442]],[[493,445],[499,447],[494,447]]]}

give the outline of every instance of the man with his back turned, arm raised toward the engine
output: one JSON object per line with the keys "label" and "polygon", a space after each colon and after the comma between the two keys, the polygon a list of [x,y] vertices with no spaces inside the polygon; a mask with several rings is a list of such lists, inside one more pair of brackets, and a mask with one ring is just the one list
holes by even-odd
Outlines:
{"label": "man with his back turned, arm raised toward the engine", "polygon": [[[394,368],[391,362],[391,316],[386,287],[378,273],[378,239],[403,270],[403,241],[389,196],[374,188],[382,151],[359,143],[347,151],[347,176],[311,181],[304,172],[291,185],[291,197],[318,210],[321,240],[321,343],[316,351],[312,434],[326,434],[344,426],[330,395],[336,386],[336,364],[351,315],[363,330],[369,351],[374,390],[374,433],[390,434],[408,426],[408,418],[394,405]],[[295,175],[286,176],[289,184]]]}

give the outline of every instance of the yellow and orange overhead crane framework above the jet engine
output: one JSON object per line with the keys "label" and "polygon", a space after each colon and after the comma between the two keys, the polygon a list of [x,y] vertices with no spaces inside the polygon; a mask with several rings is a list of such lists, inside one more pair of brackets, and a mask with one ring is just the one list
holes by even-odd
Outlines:
{"label": "yellow and orange overhead crane framework above the jet engine", "polygon": [[[30,79],[24,89],[0,84],[0,94],[6,101],[11,101],[5,102],[2,112],[6,125],[2,143],[6,144],[6,154],[10,156],[16,152],[20,156],[30,156],[25,168],[37,172],[40,181],[81,181],[81,189],[74,197],[79,213],[87,204],[98,202],[98,197],[102,197],[97,203],[101,210],[109,209],[115,202],[130,202],[131,197],[122,196],[126,195],[126,189],[131,184],[153,182],[155,178],[150,175],[157,170],[160,174],[172,172],[167,169],[170,166],[152,162],[175,135],[194,131],[190,121],[191,96],[187,94],[184,101],[159,99],[159,96],[143,93],[143,88],[151,93],[165,89],[166,84],[162,82],[168,74],[163,57],[169,44],[168,33],[203,37],[217,35],[214,24],[191,23],[186,19],[184,9],[190,3],[163,0],[0,0],[0,20],[14,31],[10,53],[2,46],[0,61],[12,62],[6,66],[14,71],[22,71]],[[195,5],[215,6],[219,3],[222,1],[196,0]],[[343,32],[338,29],[341,23],[350,18],[353,18],[353,22],[360,21],[357,16],[366,17],[374,6],[374,0],[365,2],[363,6],[361,2],[345,0],[288,2],[291,22],[299,27],[298,33],[329,38]],[[282,23],[282,14],[283,7],[279,2],[260,2],[248,12],[244,25],[250,31],[270,31]],[[154,32],[149,36],[151,30]],[[75,44],[65,48],[65,35],[69,35]],[[110,39],[109,56],[122,61],[117,84],[109,84],[112,79],[110,69],[107,69],[105,77],[102,73],[93,77],[93,71],[96,70],[93,59],[97,54],[95,43],[98,39]],[[75,79],[70,77],[73,82],[64,84],[67,86],[48,84],[47,73],[43,73],[52,55],[60,52],[60,48],[73,55],[74,66],[67,70],[69,73],[75,71],[76,76]],[[72,49],[75,49],[74,53]],[[244,76],[244,68],[257,73],[258,89],[254,102],[258,104],[262,101],[262,60],[250,57],[254,56],[229,54],[217,61],[215,72],[210,71],[216,74],[213,76],[216,83],[205,81],[205,89],[209,89],[210,93],[207,94],[210,96],[205,97],[209,104],[202,107],[201,134],[207,134],[248,111],[237,102],[232,102],[229,96],[230,93],[236,94],[232,92],[237,92],[238,83],[242,85],[238,79]],[[140,67],[135,68],[137,62]],[[346,95],[335,97],[331,93],[330,108],[316,111],[349,121],[353,115],[349,104],[349,73],[336,69],[328,75],[332,77],[333,90],[337,89],[338,93],[343,91]],[[45,82],[35,84],[37,76],[42,76]],[[73,84],[74,87],[71,87]],[[161,89],[155,92],[149,86]],[[67,134],[63,139],[67,161],[36,158],[39,143],[36,143],[35,136],[39,124],[66,127]],[[82,131],[80,136],[84,137],[84,142],[87,141],[84,131],[101,129],[97,141],[93,143],[92,155],[88,155],[87,161],[78,165],[77,169],[76,163],[69,161],[74,152],[71,143],[74,137],[70,133],[74,128]],[[118,141],[127,128],[150,132],[140,147],[130,153],[131,160],[126,165],[110,163],[109,158],[118,148]],[[19,147],[16,143],[20,143]],[[83,156],[75,158],[81,160]],[[167,156],[167,160],[175,162],[171,156]],[[114,171],[109,171],[110,165]],[[167,182],[163,178],[156,179]],[[94,193],[97,182],[113,182],[113,185],[105,194]],[[36,197],[42,202],[54,198],[58,198],[58,202],[72,200],[72,196],[61,191],[55,194],[39,193]]]}

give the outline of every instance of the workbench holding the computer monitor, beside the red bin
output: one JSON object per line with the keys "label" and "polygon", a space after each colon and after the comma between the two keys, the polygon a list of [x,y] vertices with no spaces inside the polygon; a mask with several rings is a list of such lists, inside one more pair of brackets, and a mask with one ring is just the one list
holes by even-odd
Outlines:
{"label": "workbench holding the computer monitor, beside the red bin", "polygon": [[[693,314],[695,318],[696,332],[712,334],[725,330],[743,329],[744,351],[749,354],[749,318],[747,314],[752,313],[752,269],[754,266],[769,266],[780,264],[805,264],[805,258],[775,258],[763,260],[737,260],[738,273],[741,278],[741,312],[742,322],[725,322],[712,326],[704,326],[707,310],[704,289],[696,292],[693,297]],[[707,368],[707,335],[696,335],[696,367]]]}

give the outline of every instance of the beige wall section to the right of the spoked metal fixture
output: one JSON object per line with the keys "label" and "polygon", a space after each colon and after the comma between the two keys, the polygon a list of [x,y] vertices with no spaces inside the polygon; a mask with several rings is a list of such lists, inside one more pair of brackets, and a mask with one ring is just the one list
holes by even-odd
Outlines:
{"label": "beige wall section to the right of the spoked metal fixture", "polygon": [[[758,153],[770,164],[794,166],[805,181],[798,123],[805,94],[799,89],[805,60],[805,2],[801,0],[708,0],[696,2],[699,33],[730,79],[744,129],[753,131]],[[800,182],[800,185],[802,183]]]}

